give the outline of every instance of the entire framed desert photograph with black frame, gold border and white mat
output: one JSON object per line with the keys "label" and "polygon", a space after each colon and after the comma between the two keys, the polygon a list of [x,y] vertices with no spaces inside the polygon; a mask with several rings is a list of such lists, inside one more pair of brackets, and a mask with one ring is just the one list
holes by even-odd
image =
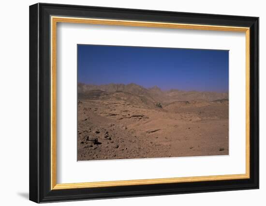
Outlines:
{"label": "entire framed desert photograph with black frame, gold border and white mat", "polygon": [[30,6],[30,200],[259,188],[259,18]]}

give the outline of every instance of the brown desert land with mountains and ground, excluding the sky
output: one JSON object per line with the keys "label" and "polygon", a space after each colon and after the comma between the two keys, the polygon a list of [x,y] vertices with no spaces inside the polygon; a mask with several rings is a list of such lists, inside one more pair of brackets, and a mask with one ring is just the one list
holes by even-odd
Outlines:
{"label": "brown desert land with mountains and ground, excluding the sky", "polygon": [[228,93],[78,83],[77,160],[228,155]]}

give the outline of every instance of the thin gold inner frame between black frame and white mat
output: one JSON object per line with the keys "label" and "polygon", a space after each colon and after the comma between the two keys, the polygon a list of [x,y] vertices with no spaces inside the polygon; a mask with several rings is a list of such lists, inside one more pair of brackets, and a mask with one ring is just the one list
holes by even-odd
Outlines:
{"label": "thin gold inner frame between black frame and white mat", "polygon": [[[198,181],[216,181],[216,180],[233,180],[250,178],[250,28],[248,27],[231,27],[215,25],[198,25],[198,24],[179,24],[164,22],[148,21],[130,21],[114,19],[97,19],[97,18],[77,18],[51,16],[51,190],[80,189],[80,188],[97,188],[97,187],[114,187],[130,185],[149,185],[163,183],[181,183],[181,182],[198,182]],[[57,60],[57,23],[82,23],[82,24],[101,24],[101,25],[120,25],[136,27],[159,27],[172,29],[193,29],[193,30],[210,30],[210,31],[227,31],[227,32],[245,32],[246,34],[246,173],[245,174],[227,174],[211,176],[193,176],[193,177],[175,177],[175,178],[158,178],[158,179],[138,179],[138,180],[120,180],[104,182],[85,182],[85,183],[67,183],[57,184],[57,157],[56,157],[56,60]]]}

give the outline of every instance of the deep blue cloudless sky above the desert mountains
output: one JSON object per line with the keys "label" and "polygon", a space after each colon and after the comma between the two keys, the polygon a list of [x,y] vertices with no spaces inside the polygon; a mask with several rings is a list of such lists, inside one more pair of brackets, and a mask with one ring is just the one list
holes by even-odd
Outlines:
{"label": "deep blue cloudless sky above the desert mountains", "polygon": [[78,45],[78,82],[228,92],[228,50]]}

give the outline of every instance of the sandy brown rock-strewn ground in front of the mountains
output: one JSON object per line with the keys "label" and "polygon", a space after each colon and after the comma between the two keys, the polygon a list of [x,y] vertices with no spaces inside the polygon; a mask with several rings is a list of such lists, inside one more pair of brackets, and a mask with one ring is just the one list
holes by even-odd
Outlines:
{"label": "sandy brown rock-strewn ground in front of the mountains", "polygon": [[228,100],[78,101],[78,160],[228,155]]}

